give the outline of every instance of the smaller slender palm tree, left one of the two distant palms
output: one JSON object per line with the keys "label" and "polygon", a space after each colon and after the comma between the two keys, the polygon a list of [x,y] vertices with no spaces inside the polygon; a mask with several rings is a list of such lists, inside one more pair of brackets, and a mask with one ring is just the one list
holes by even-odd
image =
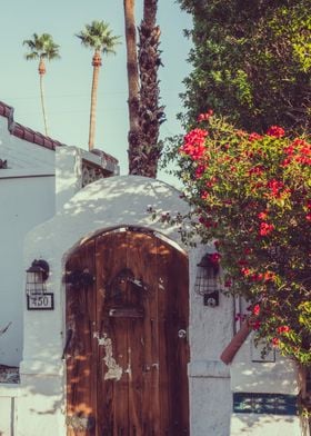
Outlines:
{"label": "smaller slender palm tree, left one of the two distant palms", "polygon": [[43,76],[47,72],[44,60],[59,59],[59,46],[54,43],[53,38],[49,33],[42,33],[41,36],[33,33],[32,39],[26,39],[23,46],[27,46],[30,50],[24,57],[27,60],[39,59],[39,76],[40,76],[40,96],[42,105],[42,113],[44,121],[44,131],[48,136],[48,122],[47,122],[47,111],[44,103],[44,90],[43,90]]}

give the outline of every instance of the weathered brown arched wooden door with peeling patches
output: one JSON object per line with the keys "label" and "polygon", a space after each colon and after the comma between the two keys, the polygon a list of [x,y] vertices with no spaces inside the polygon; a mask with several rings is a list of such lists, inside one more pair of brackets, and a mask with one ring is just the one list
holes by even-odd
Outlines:
{"label": "weathered brown arched wooden door with peeling patches", "polygon": [[187,257],[127,229],[81,246],[67,274],[68,436],[189,435]]}

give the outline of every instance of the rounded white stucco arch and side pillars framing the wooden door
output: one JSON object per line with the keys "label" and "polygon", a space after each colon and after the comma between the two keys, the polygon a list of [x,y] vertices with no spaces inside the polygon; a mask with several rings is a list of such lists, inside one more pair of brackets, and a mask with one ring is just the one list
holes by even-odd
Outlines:
{"label": "rounded white stucco arch and side pillars framing the wooden door", "polygon": [[[122,226],[146,227],[170,239],[189,254],[190,325],[189,364],[191,436],[228,436],[231,410],[229,369],[219,360],[232,336],[232,301],[221,296],[217,308],[204,307],[193,293],[197,264],[205,249],[188,249],[178,229],[152,220],[147,207],[158,211],[187,212],[188,205],[172,187],[138,176],[101,179],[79,191],[49,221],[27,236],[24,267],[34,258],[51,268],[48,291],[54,293],[54,310],[24,308],[24,349],[18,400],[19,432],[33,436],[64,436],[64,286],[62,274],[69,254],[79,244],[103,230]],[[214,402],[215,395],[218,403]],[[19,433],[18,433],[19,434]]]}

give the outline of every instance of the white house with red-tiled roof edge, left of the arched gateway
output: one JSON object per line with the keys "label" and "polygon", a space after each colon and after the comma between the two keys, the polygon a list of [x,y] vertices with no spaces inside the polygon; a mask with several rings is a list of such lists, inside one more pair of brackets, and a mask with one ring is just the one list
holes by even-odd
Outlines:
{"label": "white house with red-tiled roof edge, left of the arched gateway", "polygon": [[[62,162],[70,166],[76,160],[72,174],[81,172],[79,182],[69,190],[68,186],[56,187],[58,148],[66,155]],[[117,160],[102,151],[96,155],[67,147],[21,126],[13,119],[13,109],[1,101],[0,159],[0,331],[6,330],[0,337],[0,364],[18,366],[22,358],[23,295],[20,290],[24,280],[24,236],[56,214],[60,198],[64,201],[100,174],[102,177],[116,175],[119,168]]]}

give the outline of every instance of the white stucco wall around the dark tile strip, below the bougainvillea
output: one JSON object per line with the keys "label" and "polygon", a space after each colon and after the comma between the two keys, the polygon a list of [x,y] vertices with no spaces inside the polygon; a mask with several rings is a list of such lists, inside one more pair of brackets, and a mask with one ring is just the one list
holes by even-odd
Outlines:
{"label": "white stucco wall around the dark tile strip, below the bougainvillea", "polygon": [[[230,365],[232,393],[281,394],[298,396],[301,378],[297,364],[277,350],[261,360],[250,334]],[[308,436],[307,420],[299,415],[232,413],[230,436]]]}

